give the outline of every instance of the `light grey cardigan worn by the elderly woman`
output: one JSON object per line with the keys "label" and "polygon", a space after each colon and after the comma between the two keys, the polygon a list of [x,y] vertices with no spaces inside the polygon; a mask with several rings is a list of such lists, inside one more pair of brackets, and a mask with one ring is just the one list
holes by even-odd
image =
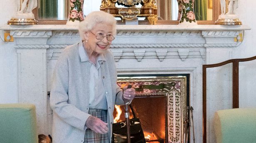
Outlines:
{"label": "light grey cardigan worn by the elderly woman", "polygon": [[[108,136],[112,138],[114,104],[124,104],[117,86],[117,72],[110,50],[98,61],[107,98]],[[89,110],[89,58],[82,41],[65,48],[58,58],[52,79],[50,107],[53,110],[53,143],[83,143]],[[121,91],[121,92],[120,92]]]}

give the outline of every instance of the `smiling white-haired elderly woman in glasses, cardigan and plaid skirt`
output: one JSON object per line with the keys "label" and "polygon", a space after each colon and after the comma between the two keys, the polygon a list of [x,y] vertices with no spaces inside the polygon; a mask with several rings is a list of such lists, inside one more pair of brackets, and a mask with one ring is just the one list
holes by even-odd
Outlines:
{"label": "smiling white-haired elderly woman in glasses, cardigan and plaid skirt", "polygon": [[[114,57],[116,20],[106,12],[91,12],[80,22],[82,41],[60,55],[50,96],[53,143],[110,143],[114,104],[135,96],[133,88],[117,86]],[[124,102],[125,100],[125,102]]]}

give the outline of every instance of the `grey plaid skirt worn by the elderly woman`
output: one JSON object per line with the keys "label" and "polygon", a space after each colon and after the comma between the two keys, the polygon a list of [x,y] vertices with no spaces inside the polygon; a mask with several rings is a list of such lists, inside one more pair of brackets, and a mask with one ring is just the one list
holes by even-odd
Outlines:
{"label": "grey plaid skirt worn by the elderly woman", "polygon": [[[89,109],[88,114],[107,123],[107,110]],[[90,128],[87,128],[85,131],[84,143],[109,143],[108,134],[95,133]]]}

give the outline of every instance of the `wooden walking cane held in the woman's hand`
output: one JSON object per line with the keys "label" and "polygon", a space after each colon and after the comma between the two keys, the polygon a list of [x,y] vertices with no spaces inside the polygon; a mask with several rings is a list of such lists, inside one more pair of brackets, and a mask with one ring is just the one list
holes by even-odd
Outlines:
{"label": "wooden walking cane held in the woman's hand", "polygon": [[[132,88],[132,85],[128,85],[127,89],[128,88]],[[130,133],[130,114],[129,114],[129,101],[127,99],[125,99],[124,101],[124,110],[125,110],[125,114],[124,114],[124,117],[125,117],[125,121],[126,121],[126,128],[127,128],[127,143],[131,143],[131,133]]]}

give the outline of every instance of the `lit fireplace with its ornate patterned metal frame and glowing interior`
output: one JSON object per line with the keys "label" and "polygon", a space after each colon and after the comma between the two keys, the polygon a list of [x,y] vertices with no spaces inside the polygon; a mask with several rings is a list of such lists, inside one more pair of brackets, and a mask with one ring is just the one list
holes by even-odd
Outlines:
{"label": "lit fireplace with its ornate patterned metal frame and glowing interior", "polygon": [[[132,107],[140,119],[146,141],[184,143],[186,107],[189,107],[188,77],[189,75],[119,75],[117,84],[120,87],[129,84],[135,88],[136,96]],[[125,121],[124,107],[121,106],[121,109],[122,114],[117,122]],[[114,117],[118,112],[114,110]]]}

